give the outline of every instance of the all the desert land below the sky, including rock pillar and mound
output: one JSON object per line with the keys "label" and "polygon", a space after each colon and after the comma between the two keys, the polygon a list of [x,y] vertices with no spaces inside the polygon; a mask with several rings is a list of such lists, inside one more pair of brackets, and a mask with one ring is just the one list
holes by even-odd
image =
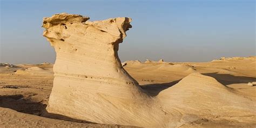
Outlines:
{"label": "all the desert land below the sky, including rock pillar and mound", "polygon": [[131,18],[43,19],[53,64],[0,65],[0,126],[256,127],[256,57],[131,60]]}

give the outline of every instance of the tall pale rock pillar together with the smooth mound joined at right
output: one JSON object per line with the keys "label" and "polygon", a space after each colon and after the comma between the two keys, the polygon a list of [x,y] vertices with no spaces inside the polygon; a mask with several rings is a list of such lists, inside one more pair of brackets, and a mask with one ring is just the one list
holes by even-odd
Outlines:
{"label": "tall pale rock pillar together with the smooth mound joined at right", "polygon": [[[144,127],[181,126],[200,119],[195,113],[208,118],[211,118],[209,113],[255,114],[254,104],[246,106],[249,99],[199,73],[192,73],[159,96],[151,97],[123,69],[118,58],[118,46],[131,28],[131,18],[95,22],[88,19],[70,14],[43,19],[43,36],[56,51],[48,112],[95,123]],[[214,98],[218,91],[218,97]],[[233,102],[233,97],[242,103]]]}

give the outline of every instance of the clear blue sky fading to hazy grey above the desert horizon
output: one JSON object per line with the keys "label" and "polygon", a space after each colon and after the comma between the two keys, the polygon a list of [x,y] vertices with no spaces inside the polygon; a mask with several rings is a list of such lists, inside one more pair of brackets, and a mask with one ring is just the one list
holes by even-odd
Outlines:
{"label": "clear blue sky fading to hazy grey above the desert horizon", "polygon": [[131,17],[133,28],[119,45],[122,61],[255,56],[254,0],[0,2],[0,63],[54,63],[55,51],[42,36],[41,25],[43,17],[61,12],[91,21]]}

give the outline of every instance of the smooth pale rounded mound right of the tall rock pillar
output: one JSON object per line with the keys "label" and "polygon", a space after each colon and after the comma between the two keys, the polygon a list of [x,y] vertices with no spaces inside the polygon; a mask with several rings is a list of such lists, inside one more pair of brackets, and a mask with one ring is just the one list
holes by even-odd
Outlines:
{"label": "smooth pale rounded mound right of the tall rock pillar", "polygon": [[[169,103],[173,107],[180,107],[179,109],[184,113],[197,115],[211,113],[213,117],[251,117],[252,119],[256,114],[256,104],[252,103],[250,97],[241,96],[235,93],[235,89],[200,73],[191,73],[179,83],[161,91],[157,97],[163,100],[165,105]],[[246,120],[247,118],[244,121]]]}

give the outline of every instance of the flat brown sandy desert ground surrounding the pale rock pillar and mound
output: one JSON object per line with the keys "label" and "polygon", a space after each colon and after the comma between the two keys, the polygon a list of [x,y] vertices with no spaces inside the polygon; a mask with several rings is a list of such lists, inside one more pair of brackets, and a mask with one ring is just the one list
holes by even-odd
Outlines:
{"label": "flat brown sandy desert ground surrounding the pale rock pillar and mound", "polygon": [[[152,97],[179,84],[191,73],[199,72],[217,79],[256,104],[256,86],[247,85],[248,82],[256,82],[256,57],[221,58],[204,63],[137,60],[123,62],[123,65]],[[0,127],[132,127],[95,124],[55,114],[42,117],[52,89],[52,66],[49,63],[0,65]],[[248,122],[239,122],[232,117],[205,117],[180,127],[256,127],[255,122],[256,115],[248,117]]]}

